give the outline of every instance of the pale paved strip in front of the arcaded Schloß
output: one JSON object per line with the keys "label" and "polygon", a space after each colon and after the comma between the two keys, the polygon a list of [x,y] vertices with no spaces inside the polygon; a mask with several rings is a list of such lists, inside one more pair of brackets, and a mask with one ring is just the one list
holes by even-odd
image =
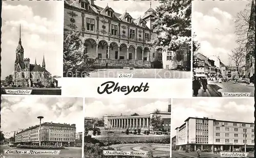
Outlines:
{"label": "pale paved strip in front of the arcaded Schlo\u00df", "polygon": [[90,77],[117,78],[117,74],[134,74],[133,78],[190,78],[191,72],[165,69],[104,69],[90,73]]}

